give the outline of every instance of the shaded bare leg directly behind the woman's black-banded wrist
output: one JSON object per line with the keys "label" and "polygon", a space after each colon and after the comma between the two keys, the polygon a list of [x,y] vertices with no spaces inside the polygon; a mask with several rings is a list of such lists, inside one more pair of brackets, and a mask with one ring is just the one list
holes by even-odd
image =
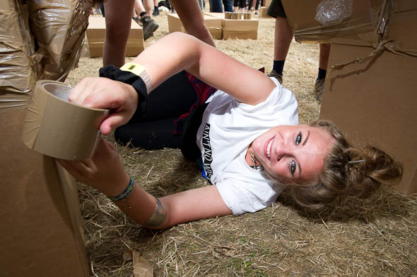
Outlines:
{"label": "shaded bare leg directly behind the woman's black-banded wrist", "polygon": [[134,0],[106,1],[105,4],[106,35],[103,47],[103,66],[112,64],[120,67],[124,65],[127,38],[131,26],[131,11]]}

